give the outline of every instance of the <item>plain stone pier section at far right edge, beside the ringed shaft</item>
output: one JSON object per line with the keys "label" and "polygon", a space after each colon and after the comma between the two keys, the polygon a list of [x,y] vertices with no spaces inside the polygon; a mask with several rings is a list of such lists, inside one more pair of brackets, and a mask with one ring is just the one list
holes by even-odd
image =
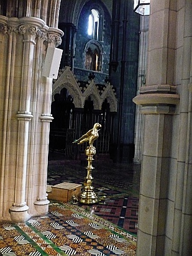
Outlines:
{"label": "plain stone pier section at far right edge, beside the ringed shaft", "polygon": [[[182,24],[182,25],[181,25]],[[180,91],[181,103],[178,119],[178,152],[175,180],[175,198],[170,203],[170,216],[173,227],[171,255],[188,256],[192,252],[192,155],[191,155],[191,84],[192,84],[192,2],[178,1],[178,31],[176,40],[175,81]],[[168,230],[168,241],[170,234]]]}

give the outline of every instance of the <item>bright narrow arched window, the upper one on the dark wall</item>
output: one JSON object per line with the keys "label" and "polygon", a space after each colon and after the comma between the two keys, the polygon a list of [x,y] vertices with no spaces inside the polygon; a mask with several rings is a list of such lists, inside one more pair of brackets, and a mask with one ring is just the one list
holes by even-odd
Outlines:
{"label": "bright narrow arched window, the upper one on the dark wall", "polygon": [[99,12],[96,9],[92,9],[89,14],[88,35],[91,36],[91,39],[98,40]]}

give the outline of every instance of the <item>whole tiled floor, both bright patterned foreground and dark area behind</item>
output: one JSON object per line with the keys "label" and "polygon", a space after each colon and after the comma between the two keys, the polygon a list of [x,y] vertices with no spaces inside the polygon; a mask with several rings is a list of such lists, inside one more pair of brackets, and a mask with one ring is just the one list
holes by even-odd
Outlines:
{"label": "whole tiled floor, both bright patterned foreground and dark area behind", "polygon": [[[47,184],[83,184],[85,165],[52,158]],[[22,224],[0,223],[0,255],[135,255],[140,167],[99,160],[93,166],[94,190],[105,195],[105,201],[52,201],[47,216]]]}

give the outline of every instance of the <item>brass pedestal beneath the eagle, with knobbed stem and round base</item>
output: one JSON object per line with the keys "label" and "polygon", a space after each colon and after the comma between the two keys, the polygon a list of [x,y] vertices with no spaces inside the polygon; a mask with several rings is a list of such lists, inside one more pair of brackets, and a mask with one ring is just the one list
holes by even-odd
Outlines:
{"label": "brass pedestal beneath the eagle, with knobbed stem and round base", "polygon": [[93,146],[89,146],[85,150],[86,155],[88,156],[88,170],[87,175],[85,177],[85,181],[83,183],[82,190],[80,194],[78,194],[78,201],[82,204],[95,204],[99,201],[99,196],[93,191],[92,180],[93,177],[91,175],[91,171],[94,169],[92,166],[93,156],[96,154],[96,149]]}

